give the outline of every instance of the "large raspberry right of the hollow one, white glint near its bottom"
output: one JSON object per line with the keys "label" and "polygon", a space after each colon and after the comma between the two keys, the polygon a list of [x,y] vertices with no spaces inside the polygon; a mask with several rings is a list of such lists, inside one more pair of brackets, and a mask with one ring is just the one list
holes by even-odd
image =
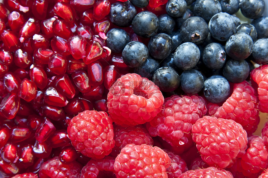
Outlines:
{"label": "large raspberry right of the hollow one, white glint near its bottom", "polygon": [[182,153],[192,145],[193,124],[207,112],[204,103],[203,98],[194,95],[165,98],[163,110],[147,123],[147,130],[167,141],[176,153]]}

